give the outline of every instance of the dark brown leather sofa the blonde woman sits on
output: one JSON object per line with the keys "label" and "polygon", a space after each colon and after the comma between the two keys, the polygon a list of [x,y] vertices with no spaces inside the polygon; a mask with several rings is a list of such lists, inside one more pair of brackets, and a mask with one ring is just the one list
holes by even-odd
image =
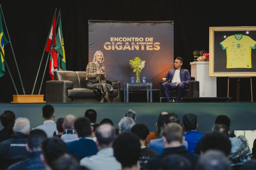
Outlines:
{"label": "dark brown leather sofa the blonde woman sits on", "polygon": [[[54,79],[46,82],[46,102],[99,102],[101,95],[85,87],[86,71],[54,71]],[[121,102],[120,82],[108,82],[114,91],[110,101]]]}

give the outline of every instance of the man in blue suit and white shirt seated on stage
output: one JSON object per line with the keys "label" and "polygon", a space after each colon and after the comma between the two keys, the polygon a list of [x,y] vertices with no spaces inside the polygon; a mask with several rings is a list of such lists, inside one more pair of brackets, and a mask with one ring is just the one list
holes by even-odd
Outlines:
{"label": "man in blue suit and white shirt seated on stage", "polygon": [[175,101],[179,102],[183,90],[188,89],[188,81],[190,80],[190,74],[188,70],[181,69],[182,64],[183,59],[181,57],[177,57],[176,60],[174,61],[174,69],[169,70],[167,74],[164,76],[164,78],[162,78],[163,81],[166,81],[166,78],[170,79],[170,82],[164,82],[162,84],[167,102],[172,102],[170,90],[177,89],[177,97]]}

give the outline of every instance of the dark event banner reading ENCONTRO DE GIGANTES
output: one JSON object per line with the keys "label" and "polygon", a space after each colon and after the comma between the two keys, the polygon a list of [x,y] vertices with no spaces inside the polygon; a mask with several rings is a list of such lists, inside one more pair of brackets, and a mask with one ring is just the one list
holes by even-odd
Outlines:
{"label": "dark event banner reading ENCONTRO DE GIGANTES", "polygon": [[140,57],[145,67],[140,74],[153,89],[159,89],[159,81],[173,69],[172,22],[110,22],[89,20],[89,62],[95,51],[102,51],[106,79],[117,79],[124,87],[135,77],[129,60]]}

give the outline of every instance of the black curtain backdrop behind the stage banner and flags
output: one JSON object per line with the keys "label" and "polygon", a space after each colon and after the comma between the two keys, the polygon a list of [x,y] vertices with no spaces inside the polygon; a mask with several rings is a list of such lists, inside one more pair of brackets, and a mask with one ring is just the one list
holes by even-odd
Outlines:
{"label": "black curtain backdrop behind the stage banner and flags", "polygon": [[[184,58],[184,69],[190,70],[195,49],[209,50],[209,26],[255,26],[254,7],[250,4],[235,5],[209,1],[14,1],[1,0],[4,17],[11,37],[14,53],[20,69],[26,94],[31,94],[37,69],[55,8],[61,9],[62,31],[66,52],[67,70],[84,71],[88,63],[88,20],[119,21],[174,21],[174,57]],[[184,3],[185,2],[185,3]],[[224,4],[223,4],[224,3]],[[43,68],[46,62],[44,55]],[[19,94],[22,93],[10,44],[5,46],[5,57]],[[211,56],[210,56],[211,57]],[[161,61],[160,61],[161,62]],[[163,61],[164,62],[164,61]],[[50,80],[48,64],[41,94],[45,94],[45,82]],[[43,75],[36,84],[38,93]],[[232,82],[234,81],[234,82]],[[230,96],[236,98],[235,80],[230,82]],[[241,81],[240,101],[250,101],[250,81]],[[253,85],[256,83],[253,78]],[[159,88],[159,87],[154,87]],[[243,89],[243,90],[242,90]],[[0,102],[12,101],[15,94],[9,73],[0,78]],[[217,78],[217,96],[227,96],[227,78]],[[255,98],[256,96],[253,95]]]}

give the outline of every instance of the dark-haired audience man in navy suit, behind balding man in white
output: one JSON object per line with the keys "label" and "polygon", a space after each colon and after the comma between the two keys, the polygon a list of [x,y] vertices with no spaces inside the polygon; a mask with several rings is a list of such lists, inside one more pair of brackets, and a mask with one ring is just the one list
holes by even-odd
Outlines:
{"label": "dark-haired audience man in navy suit, behind balding man in white", "polygon": [[79,140],[67,143],[67,153],[78,160],[95,155],[98,149],[91,137],[93,128],[90,120],[86,117],[77,118],[74,126]]}

